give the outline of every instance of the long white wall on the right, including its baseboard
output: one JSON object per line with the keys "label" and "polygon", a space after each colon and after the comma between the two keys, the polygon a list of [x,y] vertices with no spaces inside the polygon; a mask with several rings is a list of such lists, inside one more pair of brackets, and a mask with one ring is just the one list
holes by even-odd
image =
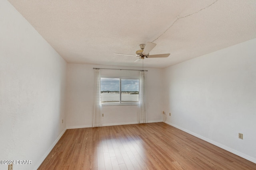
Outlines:
{"label": "long white wall on the right, including its baseboard", "polygon": [[[256,39],[164,70],[166,122],[256,163]],[[244,139],[238,139],[243,133]]]}

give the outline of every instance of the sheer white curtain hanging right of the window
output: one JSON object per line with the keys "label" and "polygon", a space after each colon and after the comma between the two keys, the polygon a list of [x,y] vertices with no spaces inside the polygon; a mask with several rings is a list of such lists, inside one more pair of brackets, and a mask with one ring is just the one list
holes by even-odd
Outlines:
{"label": "sheer white curtain hanging right of the window", "polygon": [[147,123],[146,117],[146,71],[140,71],[140,87],[139,87],[139,123]]}

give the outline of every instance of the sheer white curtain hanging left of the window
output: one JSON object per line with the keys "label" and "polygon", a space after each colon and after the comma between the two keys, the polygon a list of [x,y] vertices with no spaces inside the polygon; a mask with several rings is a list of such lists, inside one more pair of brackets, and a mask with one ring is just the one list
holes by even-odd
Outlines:
{"label": "sheer white curtain hanging left of the window", "polygon": [[94,111],[92,127],[102,126],[100,69],[94,68]]}

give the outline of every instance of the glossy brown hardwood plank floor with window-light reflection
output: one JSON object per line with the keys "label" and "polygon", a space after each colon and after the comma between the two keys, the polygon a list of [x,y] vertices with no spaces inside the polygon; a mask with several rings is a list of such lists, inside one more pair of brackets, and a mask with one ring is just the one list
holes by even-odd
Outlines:
{"label": "glossy brown hardwood plank floor with window-light reflection", "polygon": [[166,123],[68,129],[39,170],[256,170]]}

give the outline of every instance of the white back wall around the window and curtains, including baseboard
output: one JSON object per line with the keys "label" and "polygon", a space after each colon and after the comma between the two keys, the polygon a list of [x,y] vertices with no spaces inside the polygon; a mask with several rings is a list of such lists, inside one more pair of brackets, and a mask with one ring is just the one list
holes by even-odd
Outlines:
{"label": "white back wall around the window and curtains, including baseboard", "polygon": [[[131,67],[68,64],[66,86],[67,129],[92,127],[94,70],[96,68],[141,69]],[[162,121],[162,69],[146,68],[148,122]],[[139,71],[101,70],[102,76],[139,76]],[[138,106],[102,106],[102,123],[123,125],[138,123]]]}

